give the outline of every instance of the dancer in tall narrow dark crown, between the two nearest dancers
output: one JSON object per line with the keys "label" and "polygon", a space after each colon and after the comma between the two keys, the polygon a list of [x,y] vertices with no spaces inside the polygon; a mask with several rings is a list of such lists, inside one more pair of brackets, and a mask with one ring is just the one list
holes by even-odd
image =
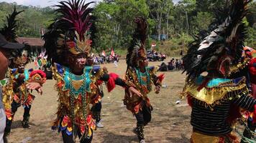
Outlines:
{"label": "dancer in tall narrow dark crown, between the two nearest dancers", "polygon": [[147,39],[147,21],[141,17],[134,20],[137,24],[132,45],[127,54],[127,71],[125,80],[128,85],[135,87],[142,93],[142,97],[129,94],[125,91],[124,105],[131,111],[137,119],[137,127],[134,132],[137,134],[140,142],[145,142],[143,129],[151,120],[152,106],[147,94],[152,91],[152,84],[155,85],[155,93],[160,92],[163,74],[159,77],[155,75],[155,67],[148,66],[145,41]]}

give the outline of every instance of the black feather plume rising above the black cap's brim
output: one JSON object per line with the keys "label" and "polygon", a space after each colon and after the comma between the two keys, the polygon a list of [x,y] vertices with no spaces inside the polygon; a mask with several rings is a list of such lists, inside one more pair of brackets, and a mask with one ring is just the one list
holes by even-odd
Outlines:
{"label": "black feather plume rising above the black cap's brim", "polygon": [[16,42],[17,34],[16,34],[16,28],[17,28],[17,20],[16,16],[20,14],[23,11],[17,11],[16,6],[14,6],[14,11],[12,14],[9,14],[6,16],[7,24],[4,25],[4,28],[0,30],[0,33],[4,35],[5,39],[7,41]]}

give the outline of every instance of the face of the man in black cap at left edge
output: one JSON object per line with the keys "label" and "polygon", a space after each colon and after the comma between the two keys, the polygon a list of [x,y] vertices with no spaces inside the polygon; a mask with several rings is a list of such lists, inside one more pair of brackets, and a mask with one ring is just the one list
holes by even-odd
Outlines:
{"label": "face of the man in black cap at left edge", "polygon": [[8,69],[8,64],[9,64],[9,56],[11,55],[11,52],[6,50],[6,49],[1,49],[0,48],[0,80],[4,79],[6,71]]}

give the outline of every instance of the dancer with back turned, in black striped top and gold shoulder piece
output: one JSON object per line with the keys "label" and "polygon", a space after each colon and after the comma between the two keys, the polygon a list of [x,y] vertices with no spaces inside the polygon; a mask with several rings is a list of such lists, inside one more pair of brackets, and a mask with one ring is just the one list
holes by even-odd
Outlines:
{"label": "dancer with back turned, in black striped top and gold shoulder piece", "polygon": [[230,79],[230,69],[242,59],[244,34],[242,19],[250,0],[232,0],[216,14],[209,35],[189,45],[183,57],[188,75],[183,95],[192,107],[191,142],[239,142],[232,132],[239,108],[255,111],[245,77]]}

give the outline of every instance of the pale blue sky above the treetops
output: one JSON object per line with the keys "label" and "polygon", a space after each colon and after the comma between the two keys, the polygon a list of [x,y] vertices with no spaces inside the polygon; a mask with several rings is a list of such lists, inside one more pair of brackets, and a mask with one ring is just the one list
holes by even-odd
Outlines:
{"label": "pale blue sky above the treetops", "polygon": [[[0,2],[6,1],[9,3],[12,2],[17,2],[17,4],[22,4],[25,6],[40,6],[40,7],[45,7],[45,6],[52,6],[54,4],[57,4],[57,1],[61,0],[0,0]],[[101,0],[87,0],[87,1],[101,1]],[[173,0],[174,3],[177,3],[179,0]]]}

